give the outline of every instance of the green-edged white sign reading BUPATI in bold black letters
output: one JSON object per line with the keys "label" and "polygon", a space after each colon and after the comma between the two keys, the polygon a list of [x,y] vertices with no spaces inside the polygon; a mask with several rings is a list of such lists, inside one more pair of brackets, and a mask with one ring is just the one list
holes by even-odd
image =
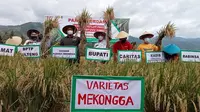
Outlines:
{"label": "green-edged white sign reading BUPATI in bold black letters", "polygon": [[102,48],[87,48],[86,59],[87,60],[97,60],[97,61],[109,61],[111,58],[110,49]]}

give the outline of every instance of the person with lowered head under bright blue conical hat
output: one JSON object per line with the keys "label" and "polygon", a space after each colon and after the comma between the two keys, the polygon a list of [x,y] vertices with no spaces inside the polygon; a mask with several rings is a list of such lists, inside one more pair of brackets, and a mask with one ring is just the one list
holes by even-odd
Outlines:
{"label": "person with lowered head under bright blue conical hat", "polygon": [[179,53],[181,49],[176,46],[175,44],[169,44],[164,47],[163,53],[165,56],[165,61],[178,61],[179,60]]}

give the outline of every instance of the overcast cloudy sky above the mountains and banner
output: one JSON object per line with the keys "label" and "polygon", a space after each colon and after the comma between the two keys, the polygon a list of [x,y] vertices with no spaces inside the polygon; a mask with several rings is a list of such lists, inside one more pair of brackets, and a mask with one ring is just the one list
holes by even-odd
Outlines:
{"label": "overcast cloudy sky above the mountains and banner", "polygon": [[154,34],[169,21],[176,24],[177,36],[200,37],[199,0],[1,0],[0,25],[42,22],[44,15],[76,16],[87,8],[93,17],[113,6],[115,16],[130,18],[130,34]]}

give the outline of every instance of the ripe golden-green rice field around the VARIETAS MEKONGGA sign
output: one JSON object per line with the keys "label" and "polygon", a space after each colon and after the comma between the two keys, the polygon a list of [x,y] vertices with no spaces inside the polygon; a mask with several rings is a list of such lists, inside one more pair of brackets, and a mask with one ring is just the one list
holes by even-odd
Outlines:
{"label": "ripe golden-green rice field around the VARIETAS MEKONGGA sign", "polygon": [[0,57],[0,99],[3,112],[69,111],[74,74],[144,76],[146,112],[198,112],[199,63],[126,63],[105,65],[82,61]]}

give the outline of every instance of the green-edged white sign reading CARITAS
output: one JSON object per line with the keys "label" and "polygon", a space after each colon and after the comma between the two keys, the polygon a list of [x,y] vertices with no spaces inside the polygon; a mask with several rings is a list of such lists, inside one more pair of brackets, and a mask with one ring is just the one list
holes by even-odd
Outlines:
{"label": "green-edged white sign reading CARITAS", "polygon": [[141,62],[142,60],[142,52],[141,51],[133,51],[133,50],[119,50],[118,51],[118,61],[119,62]]}

